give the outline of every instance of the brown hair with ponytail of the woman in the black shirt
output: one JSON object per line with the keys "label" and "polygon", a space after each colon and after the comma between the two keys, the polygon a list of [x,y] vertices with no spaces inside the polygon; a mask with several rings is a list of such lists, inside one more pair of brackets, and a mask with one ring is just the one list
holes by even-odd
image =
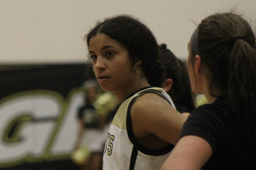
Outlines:
{"label": "brown hair with ponytail of the woman in the black shirt", "polygon": [[[208,68],[209,91],[227,94],[239,141],[240,167],[251,169],[256,144],[256,47],[249,23],[230,13],[211,15],[199,24],[198,46]],[[193,59],[193,58],[192,58]]]}

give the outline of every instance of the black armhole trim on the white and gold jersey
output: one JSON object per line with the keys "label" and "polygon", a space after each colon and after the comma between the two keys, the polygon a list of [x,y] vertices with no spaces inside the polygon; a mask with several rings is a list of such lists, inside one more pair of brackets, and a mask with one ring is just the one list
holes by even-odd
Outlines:
{"label": "black armhole trim on the white and gold jersey", "polygon": [[160,95],[161,97],[163,97],[165,100],[167,100],[170,103],[170,101],[166,98],[166,96],[164,96],[161,92],[156,91],[154,89],[149,89],[147,91],[143,91],[143,92],[141,92],[141,94],[134,97],[131,100],[131,102],[129,103],[129,106],[127,109],[127,117],[126,117],[127,134],[128,134],[128,137],[129,137],[131,143],[133,144],[133,146],[140,152],[147,154],[147,155],[153,155],[153,156],[165,155],[165,154],[169,153],[174,148],[174,145],[170,144],[162,149],[148,149],[148,148],[144,147],[143,145],[141,145],[141,143],[139,143],[139,141],[137,141],[137,139],[133,133],[132,122],[131,122],[131,106],[133,105],[134,101],[137,98],[139,98],[141,95],[148,93],[148,92],[154,92],[154,93]]}

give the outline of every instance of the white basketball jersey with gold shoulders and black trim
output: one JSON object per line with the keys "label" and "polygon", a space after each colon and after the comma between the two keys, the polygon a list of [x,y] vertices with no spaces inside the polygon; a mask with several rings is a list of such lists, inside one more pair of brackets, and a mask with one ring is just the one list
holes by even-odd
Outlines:
{"label": "white basketball jersey with gold shoulders and black trim", "polygon": [[130,110],[136,98],[146,92],[159,94],[175,108],[170,96],[164,89],[157,87],[140,89],[117,106],[107,134],[103,170],[158,170],[173,149],[172,144],[163,149],[148,149],[135,139],[131,127]]}

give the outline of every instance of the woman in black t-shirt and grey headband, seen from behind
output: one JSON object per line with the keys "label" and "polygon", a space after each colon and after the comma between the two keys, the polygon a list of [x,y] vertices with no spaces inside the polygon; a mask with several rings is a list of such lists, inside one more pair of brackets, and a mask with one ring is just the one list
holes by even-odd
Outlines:
{"label": "woman in black t-shirt and grey headband, seen from behind", "polygon": [[256,169],[256,47],[234,12],[208,16],[188,43],[192,90],[208,104],[191,112],[162,170]]}

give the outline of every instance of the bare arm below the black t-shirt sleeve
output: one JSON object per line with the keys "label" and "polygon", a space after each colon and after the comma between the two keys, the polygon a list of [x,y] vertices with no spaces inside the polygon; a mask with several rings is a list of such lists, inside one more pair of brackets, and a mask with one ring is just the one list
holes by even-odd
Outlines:
{"label": "bare arm below the black t-shirt sleeve", "polygon": [[184,136],[179,139],[161,170],[200,170],[211,155],[210,144],[203,138]]}

